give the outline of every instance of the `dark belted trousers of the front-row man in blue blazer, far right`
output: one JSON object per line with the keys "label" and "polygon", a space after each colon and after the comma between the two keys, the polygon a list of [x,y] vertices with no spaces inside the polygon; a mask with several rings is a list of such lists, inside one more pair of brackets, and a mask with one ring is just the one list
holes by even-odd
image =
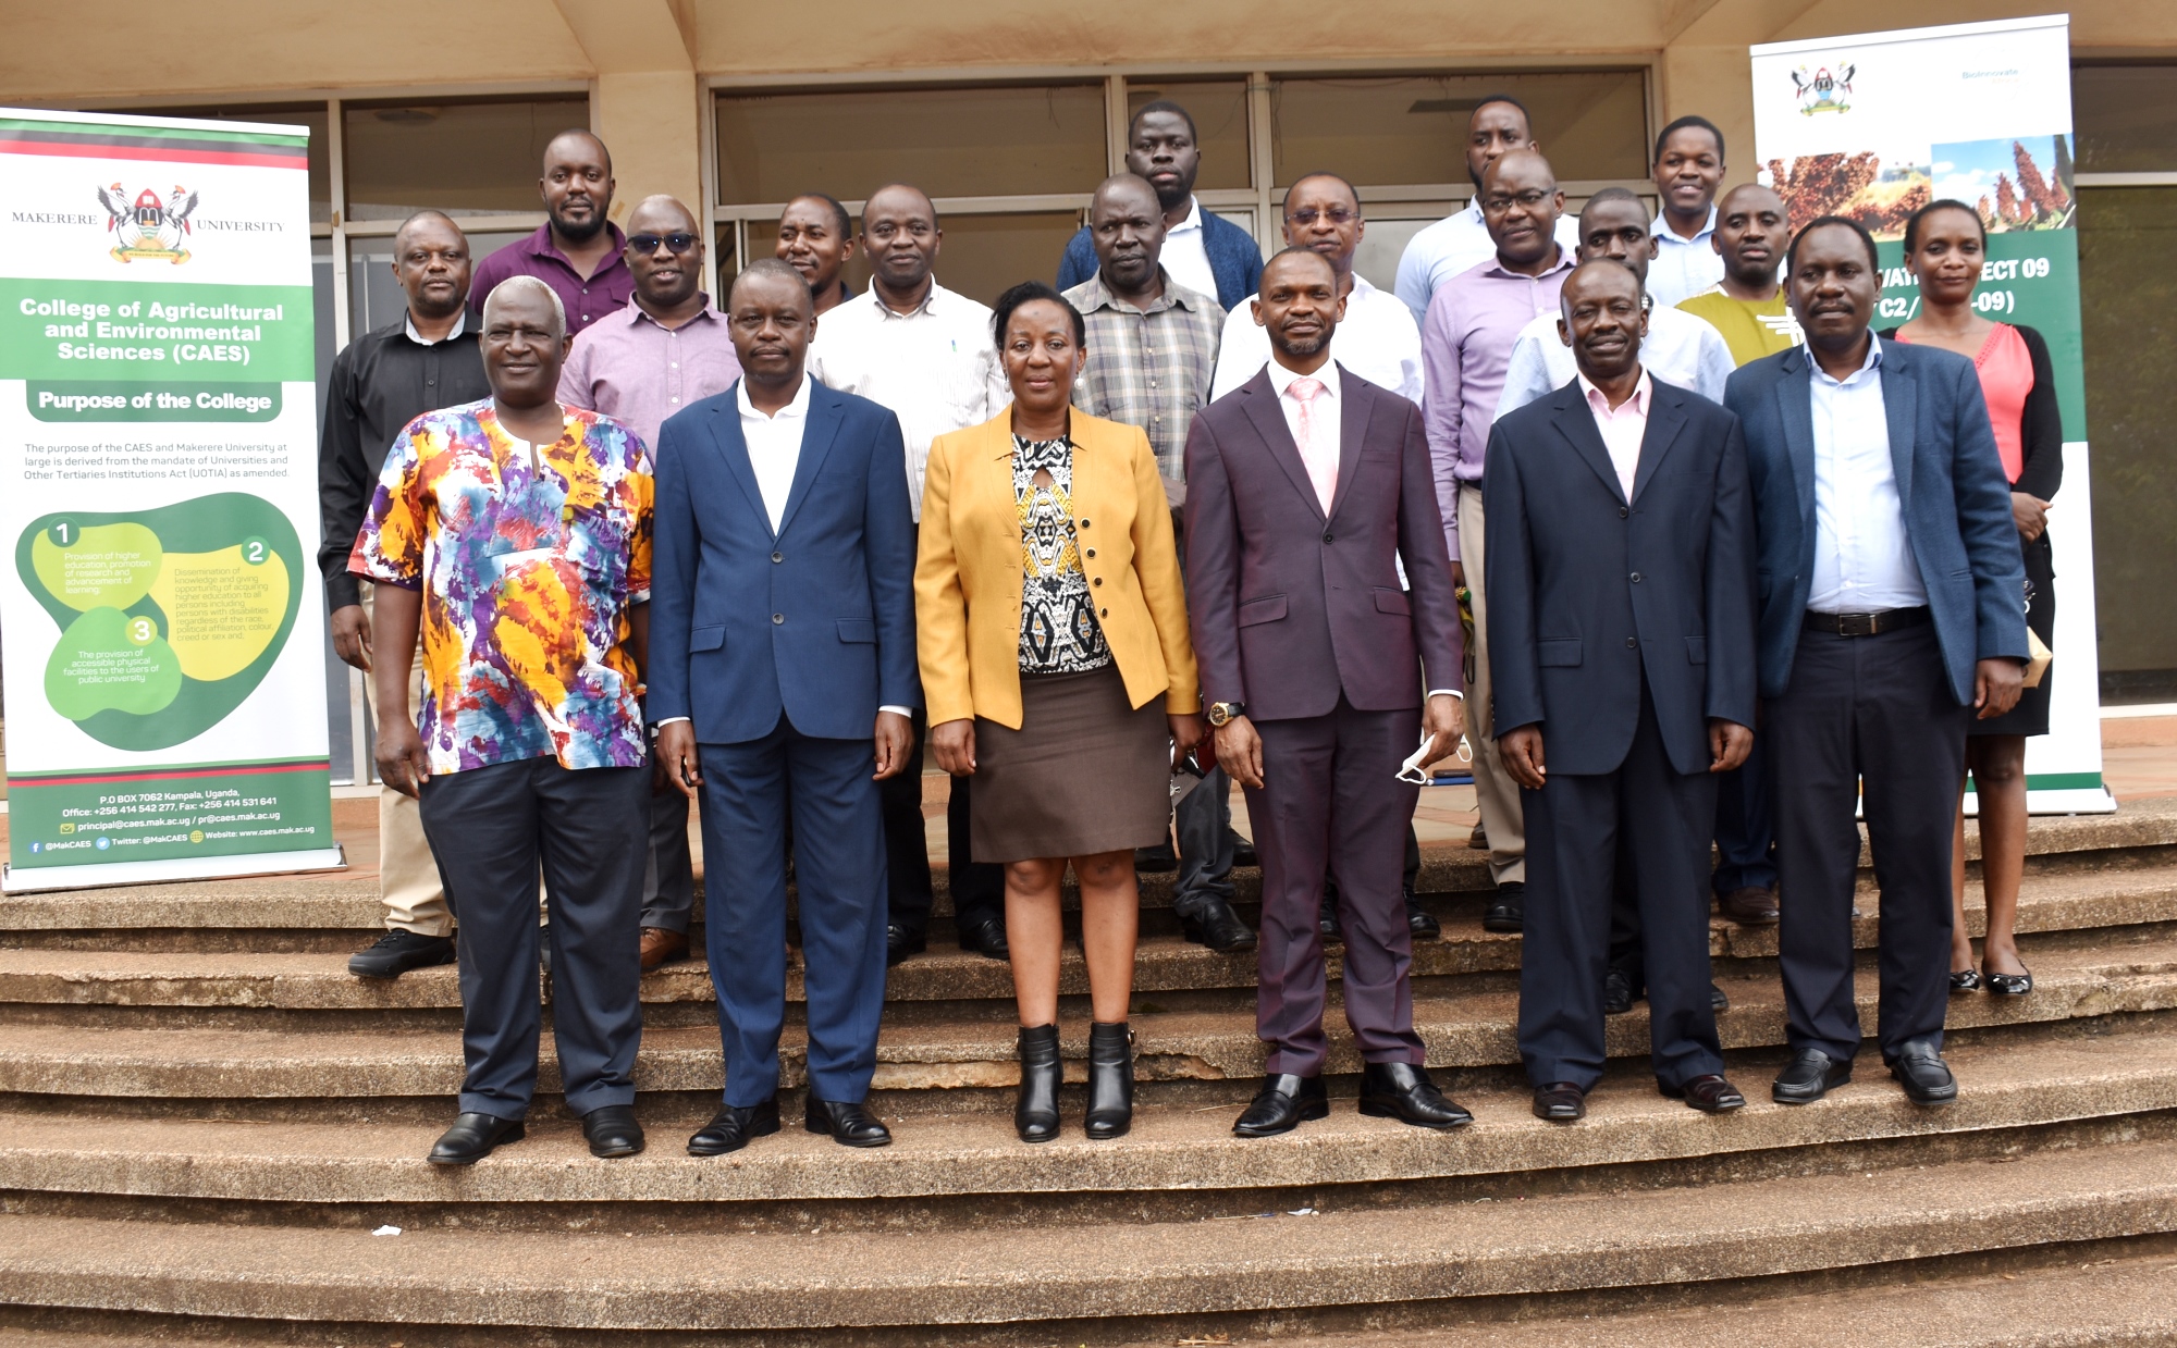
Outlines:
{"label": "dark belted trousers of the front-row man in blue blazer, far right", "polygon": [[1951,998],[1951,828],[1966,772],[1966,726],[1933,624],[1879,637],[1800,633],[1792,683],[1761,707],[1776,870],[1783,885],[1785,1037],[1850,1061],[1855,804],[1866,811],[1881,887],[1883,1061],[1942,1046]]}

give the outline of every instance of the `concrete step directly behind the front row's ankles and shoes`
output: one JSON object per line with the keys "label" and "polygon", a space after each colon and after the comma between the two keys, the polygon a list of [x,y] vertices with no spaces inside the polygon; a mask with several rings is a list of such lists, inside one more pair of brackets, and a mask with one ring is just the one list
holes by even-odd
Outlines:
{"label": "concrete step directly behind the front row's ankles and shoes", "polygon": [[[2035,989],[2025,998],[1988,994],[1951,998],[1955,1031],[2046,1024],[2077,1018],[2177,1007],[2177,937],[2118,937],[2088,948],[2044,948],[2025,954]],[[1774,970],[1724,972],[1731,998],[1720,1018],[1726,1048],[1783,1044],[1783,989]],[[1498,1068],[1517,1063],[1513,974],[1472,974],[1452,991],[1422,987],[1415,1028],[1430,1065]],[[1877,976],[1861,957],[1857,978],[1861,1022],[1872,1026]],[[1332,998],[1335,1000],[1335,998]],[[1330,1011],[1330,1072],[1358,1072],[1350,1033]],[[1254,998],[1245,991],[1182,991],[1136,998],[1132,1026],[1145,1081],[1232,1081],[1263,1070],[1254,1037]],[[1067,1015],[1067,1054],[1086,1057],[1086,1015]],[[803,1035],[788,1026],[782,1046],[786,1085],[801,1085]],[[1648,1052],[1646,1004],[1611,1018],[1609,1052]],[[880,1091],[945,1091],[1006,1087],[1019,1078],[1014,1020],[1008,1007],[895,1002],[877,1044]],[[716,1091],[718,1035],[708,1024],[649,1026],[636,1059],[636,1081],[649,1091]],[[462,1078],[459,1035],[444,1031],[253,1031],[137,1028],[83,1024],[0,1024],[0,1091],[128,1096],[185,1100],[451,1096]],[[544,1050],[542,1087],[557,1089],[557,1063]]]}

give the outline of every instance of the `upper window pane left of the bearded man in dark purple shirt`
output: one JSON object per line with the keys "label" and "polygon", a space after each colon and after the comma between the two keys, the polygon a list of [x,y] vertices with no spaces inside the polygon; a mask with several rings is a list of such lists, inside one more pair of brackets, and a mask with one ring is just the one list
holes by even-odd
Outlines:
{"label": "upper window pane left of the bearded man in dark purple shirt", "polygon": [[346,124],[348,220],[542,211],[544,146],[590,126],[590,100],[522,98],[340,109]]}

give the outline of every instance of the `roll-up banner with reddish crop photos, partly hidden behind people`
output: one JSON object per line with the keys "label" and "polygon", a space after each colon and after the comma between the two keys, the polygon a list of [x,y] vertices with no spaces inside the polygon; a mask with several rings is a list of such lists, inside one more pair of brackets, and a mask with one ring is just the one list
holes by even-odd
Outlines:
{"label": "roll-up banner with reddish crop photos, partly hidden behind people", "polygon": [[[1792,228],[1850,215],[1883,263],[1877,328],[1920,313],[1905,220],[1959,200],[1988,226],[1977,311],[2038,328],[2064,411],[2064,487],[2049,509],[2055,661],[2049,733],[2027,741],[2035,813],[2112,811],[2101,783],[2094,659],[2094,511],[2079,341],[2079,235],[2070,143],[2070,15],[1905,28],[1752,48],[1755,157]],[[1972,796],[1966,809],[1972,809]]]}

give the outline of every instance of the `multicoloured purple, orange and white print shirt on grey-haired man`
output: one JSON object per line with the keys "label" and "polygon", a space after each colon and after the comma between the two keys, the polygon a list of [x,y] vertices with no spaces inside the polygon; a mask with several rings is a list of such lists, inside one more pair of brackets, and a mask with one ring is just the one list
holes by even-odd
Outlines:
{"label": "multicoloured purple, orange and white print shirt on grey-haired man", "polygon": [[431,772],[642,765],[627,609],[649,600],[651,494],[649,450],[592,411],[549,446],[490,398],[401,433],[348,572],[422,591]]}

